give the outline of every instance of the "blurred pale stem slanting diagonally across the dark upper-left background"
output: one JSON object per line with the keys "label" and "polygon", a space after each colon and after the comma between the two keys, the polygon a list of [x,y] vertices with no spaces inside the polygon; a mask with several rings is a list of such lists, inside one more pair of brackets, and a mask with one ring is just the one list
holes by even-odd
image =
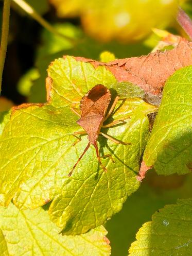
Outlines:
{"label": "blurred pale stem slanting diagonally across the dark upper-left background", "polygon": [[[39,13],[34,10],[30,5],[28,5],[24,0],[13,0],[14,3],[19,5],[26,13],[28,13],[34,20],[39,22],[44,28],[46,28],[51,33],[54,33],[55,35],[64,38],[65,40],[69,40],[71,43],[75,44],[76,40],[74,40],[71,37],[67,37],[63,35],[62,33],[58,32],[53,26],[51,26],[46,20],[42,18]],[[41,0],[40,0],[41,4]]]}

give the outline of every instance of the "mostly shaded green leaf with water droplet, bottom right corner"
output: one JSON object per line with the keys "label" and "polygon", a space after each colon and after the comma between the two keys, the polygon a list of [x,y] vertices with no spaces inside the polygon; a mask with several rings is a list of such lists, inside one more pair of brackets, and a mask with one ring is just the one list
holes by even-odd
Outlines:
{"label": "mostly shaded green leaf with water droplet, bottom right corner", "polygon": [[136,234],[130,256],[191,255],[192,199],[178,200],[152,216]]}

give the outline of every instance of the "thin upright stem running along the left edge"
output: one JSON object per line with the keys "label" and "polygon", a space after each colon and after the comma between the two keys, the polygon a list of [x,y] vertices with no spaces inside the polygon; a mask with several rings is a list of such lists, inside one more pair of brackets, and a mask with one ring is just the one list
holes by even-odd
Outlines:
{"label": "thin upright stem running along the left edge", "polygon": [[7,43],[9,35],[9,15],[10,15],[11,0],[4,0],[3,7],[3,23],[2,23],[2,39],[0,48],[0,94],[2,91],[2,75],[7,52]]}

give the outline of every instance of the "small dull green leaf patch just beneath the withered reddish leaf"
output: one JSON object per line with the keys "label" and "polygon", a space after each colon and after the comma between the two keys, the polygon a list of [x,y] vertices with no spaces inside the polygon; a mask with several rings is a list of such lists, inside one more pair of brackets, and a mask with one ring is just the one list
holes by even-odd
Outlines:
{"label": "small dull green leaf patch just beneath the withered reddish leaf", "polygon": [[113,85],[120,98],[144,98],[145,91],[131,82],[117,82]]}

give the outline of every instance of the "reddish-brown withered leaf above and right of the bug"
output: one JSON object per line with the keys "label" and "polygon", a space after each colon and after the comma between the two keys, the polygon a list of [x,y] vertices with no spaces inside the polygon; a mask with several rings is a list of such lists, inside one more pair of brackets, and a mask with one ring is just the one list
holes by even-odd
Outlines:
{"label": "reddish-brown withered leaf above and right of the bug", "polygon": [[[192,43],[180,38],[171,50],[159,50],[146,56],[117,59],[109,63],[77,57],[76,60],[90,62],[95,67],[104,65],[118,82],[129,81],[145,90],[147,94],[159,95],[169,76],[176,70],[192,64]],[[149,100],[150,102],[150,100]]]}

